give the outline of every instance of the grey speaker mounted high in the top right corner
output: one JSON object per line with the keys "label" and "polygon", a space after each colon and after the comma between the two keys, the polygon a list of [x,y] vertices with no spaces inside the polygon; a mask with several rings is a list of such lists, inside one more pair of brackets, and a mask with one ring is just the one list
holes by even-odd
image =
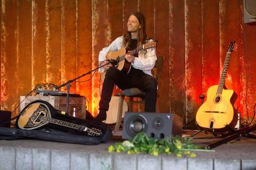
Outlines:
{"label": "grey speaker mounted high in the top right corner", "polygon": [[244,0],[244,23],[256,23],[255,0]]}

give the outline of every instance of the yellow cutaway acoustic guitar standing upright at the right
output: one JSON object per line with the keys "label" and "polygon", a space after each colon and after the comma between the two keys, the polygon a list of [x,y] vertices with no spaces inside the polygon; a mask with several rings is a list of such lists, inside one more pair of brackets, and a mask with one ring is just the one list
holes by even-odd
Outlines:
{"label": "yellow cutaway acoustic guitar standing upright at the right", "polygon": [[233,90],[226,89],[224,85],[235,44],[236,41],[231,41],[228,46],[219,85],[211,86],[207,90],[207,100],[197,111],[196,122],[203,129],[227,132],[229,127],[234,128],[237,124],[238,114],[233,107],[237,94]]}

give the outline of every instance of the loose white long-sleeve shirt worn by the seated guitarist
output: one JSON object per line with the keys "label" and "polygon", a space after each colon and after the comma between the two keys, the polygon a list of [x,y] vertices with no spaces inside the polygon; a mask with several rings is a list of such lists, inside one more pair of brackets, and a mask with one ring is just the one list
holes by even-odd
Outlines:
{"label": "loose white long-sleeve shirt worn by the seated guitarist", "polygon": [[[106,54],[110,51],[118,51],[122,48],[123,36],[117,37],[109,46],[104,47],[99,52],[99,62],[106,60]],[[152,39],[147,42],[153,41]],[[151,75],[151,70],[153,69],[157,60],[156,56],[156,48],[146,49],[146,53],[142,53],[141,51],[138,54],[138,57],[135,57],[134,63],[132,66],[136,69],[142,70],[145,74]],[[99,72],[103,72],[104,68],[99,68]]]}

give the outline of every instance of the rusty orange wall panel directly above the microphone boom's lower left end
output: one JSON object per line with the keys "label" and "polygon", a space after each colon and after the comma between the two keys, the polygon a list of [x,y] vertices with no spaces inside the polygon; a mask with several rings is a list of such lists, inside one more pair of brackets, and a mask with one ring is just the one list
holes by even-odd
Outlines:
{"label": "rusty orange wall panel directly above the microphone boom's lower left end", "polygon": [[61,84],[61,1],[47,1],[46,81]]}

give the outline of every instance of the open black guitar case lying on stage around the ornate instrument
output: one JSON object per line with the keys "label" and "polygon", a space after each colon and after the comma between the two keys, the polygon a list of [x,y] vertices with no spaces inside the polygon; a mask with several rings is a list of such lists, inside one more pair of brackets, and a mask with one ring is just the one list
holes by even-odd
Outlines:
{"label": "open black guitar case lying on stage around the ornate instrument", "polygon": [[[26,112],[26,109],[33,103],[45,104],[50,111],[50,115],[54,119],[62,120],[72,124],[80,125],[88,128],[95,128],[101,131],[98,136],[91,136],[84,131],[68,128],[65,126],[55,125],[48,123],[35,130],[20,129],[18,126],[18,119],[20,115]],[[60,111],[56,110],[51,104],[45,101],[34,101],[26,106],[18,115],[16,119],[16,128],[0,127],[0,139],[14,140],[14,139],[44,139],[59,142],[78,143],[95,145],[99,143],[106,143],[109,141],[112,134],[111,129],[101,122],[94,122],[87,119],[76,118],[70,115],[61,114]]]}

